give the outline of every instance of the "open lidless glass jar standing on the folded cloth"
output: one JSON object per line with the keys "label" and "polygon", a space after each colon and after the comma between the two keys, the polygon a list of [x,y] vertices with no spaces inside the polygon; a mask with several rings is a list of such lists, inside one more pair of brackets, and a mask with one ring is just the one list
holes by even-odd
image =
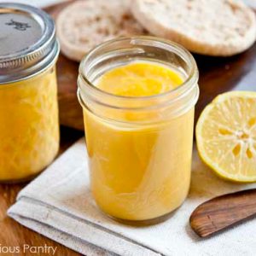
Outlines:
{"label": "open lidless glass jar standing on the folded cloth", "polygon": [[[153,61],[184,82],[154,96],[116,96],[96,87],[113,67]],[[96,204],[119,220],[159,219],[189,191],[198,70],[186,49],[162,38],[118,38],[101,44],[79,67],[78,97]]]}

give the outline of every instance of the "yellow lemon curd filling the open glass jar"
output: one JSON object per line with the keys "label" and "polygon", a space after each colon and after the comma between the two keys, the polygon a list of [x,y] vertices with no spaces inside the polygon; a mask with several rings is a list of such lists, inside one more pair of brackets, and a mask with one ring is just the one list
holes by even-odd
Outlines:
{"label": "yellow lemon curd filling the open glass jar", "polygon": [[[181,84],[181,73],[146,61],[115,67],[96,81],[96,87],[118,96],[159,95]],[[84,108],[91,189],[102,211],[148,220],[179,207],[189,190],[193,122],[194,108],[165,122],[127,128]]]}

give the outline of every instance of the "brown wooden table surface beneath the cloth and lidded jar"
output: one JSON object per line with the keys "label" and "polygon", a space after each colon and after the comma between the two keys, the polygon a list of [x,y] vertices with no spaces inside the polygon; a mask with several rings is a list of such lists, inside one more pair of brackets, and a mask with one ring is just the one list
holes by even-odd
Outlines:
{"label": "brown wooden table surface beneath the cloth and lidded jar", "polygon": [[[75,131],[71,128],[61,127],[61,150],[60,153],[65,151],[71,144],[83,137],[82,131]],[[26,227],[18,224],[12,218],[6,215],[8,208],[15,203],[16,195],[20,189],[24,188],[27,183],[20,184],[0,184],[0,255],[53,255],[53,253],[23,253],[23,246],[25,244],[30,247],[56,247],[54,255],[69,256],[80,255],[73,250],[62,246],[61,244],[49,240],[45,236],[27,229]],[[1,247],[20,247],[20,253],[1,253]]]}

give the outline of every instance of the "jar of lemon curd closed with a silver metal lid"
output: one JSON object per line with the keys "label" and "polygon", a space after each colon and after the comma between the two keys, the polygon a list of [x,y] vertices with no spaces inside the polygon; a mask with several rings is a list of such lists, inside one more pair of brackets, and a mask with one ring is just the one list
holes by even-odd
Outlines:
{"label": "jar of lemon curd closed with a silver metal lid", "polygon": [[34,177],[59,149],[55,62],[59,44],[44,11],[0,3],[0,183]]}

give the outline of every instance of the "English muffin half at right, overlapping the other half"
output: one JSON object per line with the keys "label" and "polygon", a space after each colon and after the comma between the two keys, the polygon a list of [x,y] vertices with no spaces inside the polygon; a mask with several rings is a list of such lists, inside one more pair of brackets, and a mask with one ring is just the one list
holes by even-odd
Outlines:
{"label": "English muffin half at right, overlapping the other half", "polygon": [[204,55],[236,55],[256,39],[253,10],[233,0],[134,0],[132,13],[155,36]]}

